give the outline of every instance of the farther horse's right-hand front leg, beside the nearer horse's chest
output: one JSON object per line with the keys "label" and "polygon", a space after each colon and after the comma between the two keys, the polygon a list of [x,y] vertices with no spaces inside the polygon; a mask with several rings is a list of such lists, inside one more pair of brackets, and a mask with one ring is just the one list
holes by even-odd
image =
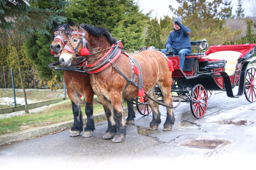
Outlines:
{"label": "farther horse's right-hand front leg, beside the nearer horse's chest", "polygon": [[87,116],[87,123],[85,127],[85,132],[82,137],[91,137],[93,131],[95,130],[93,120],[93,95],[94,92],[91,89],[88,89],[85,92],[85,114]]}

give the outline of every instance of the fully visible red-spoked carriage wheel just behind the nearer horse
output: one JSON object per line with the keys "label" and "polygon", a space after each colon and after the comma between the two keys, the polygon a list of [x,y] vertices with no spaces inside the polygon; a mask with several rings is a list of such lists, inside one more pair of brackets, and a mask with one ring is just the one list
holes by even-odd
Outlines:
{"label": "fully visible red-spoked carriage wheel just behind the nearer horse", "polygon": [[203,117],[207,106],[207,94],[202,85],[195,85],[191,91],[192,100],[190,101],[190,109],[193,116],[197,119]]}

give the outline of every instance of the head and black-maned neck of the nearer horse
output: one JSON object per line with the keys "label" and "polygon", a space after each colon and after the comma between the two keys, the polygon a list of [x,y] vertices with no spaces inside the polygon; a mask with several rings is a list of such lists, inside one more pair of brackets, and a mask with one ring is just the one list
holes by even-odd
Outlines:
{"label": "head and black-maned neck of the nearer horse", "polygon": [[[109,48],[117,39],[113,38],[106,28],[75,22],[74,31],[71,33],[67,44],[64,46],[59,61],[61,66],[74,66],[77,61],[87,60],[88,64],[97,61],[104,50]],[[87,52],[84,52],[84,51]],[[89,54],[89,55],[88,55]]]}

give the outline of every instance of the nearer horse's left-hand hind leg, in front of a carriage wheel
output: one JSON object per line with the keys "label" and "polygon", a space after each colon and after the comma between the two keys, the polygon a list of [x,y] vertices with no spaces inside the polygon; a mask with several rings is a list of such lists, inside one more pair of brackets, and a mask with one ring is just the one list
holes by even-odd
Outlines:
{"label": "nearer horse's left-hand hind leg, in front of a carriage wheel", "polygon": [[[155,86],[152,89],[150,89],[150,91],[148,92],[148,95],[157,101],[154,88],[155,88]],[[158,129],[159,124],[161,123],[159,105],[150,99],[148,99],[148,103],[152,109],[152,115],[153,115],[152,121],[150,122],[149,129],[156,130],[156,129]]]}

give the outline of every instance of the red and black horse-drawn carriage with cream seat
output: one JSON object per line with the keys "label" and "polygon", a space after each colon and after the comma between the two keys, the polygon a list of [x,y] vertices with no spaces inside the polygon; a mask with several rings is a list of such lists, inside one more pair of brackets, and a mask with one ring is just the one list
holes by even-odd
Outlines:
{"label": "red and black horse-drawn carriage with cream seat", "polygon": [[[185,56],[183,69],[179,67],[179,56],[166,54],[173,62],[172,73],[172,97],[174,102],[186,102],[190,104],[193,116],[200,119],[207,108],[207,100],[213,91],[226,91],[227,96],[238,98],[245,95],[249,102],[256,101],[256,75],[255,68],[248,68],[254,61],[256,44],[218,45],[208,47],[206,39],[191,41],[192,48],[197,53]],[[194,49],[194,51],[196,51]],[[233,89],[238,86],[238,93],[233,94]],[[161,91],[155,88],[155,94],[161,101]],[[143,97],[141,105],[137,109],[141,115],[147,116],[151,108],[147,103],[147,97]]]}

